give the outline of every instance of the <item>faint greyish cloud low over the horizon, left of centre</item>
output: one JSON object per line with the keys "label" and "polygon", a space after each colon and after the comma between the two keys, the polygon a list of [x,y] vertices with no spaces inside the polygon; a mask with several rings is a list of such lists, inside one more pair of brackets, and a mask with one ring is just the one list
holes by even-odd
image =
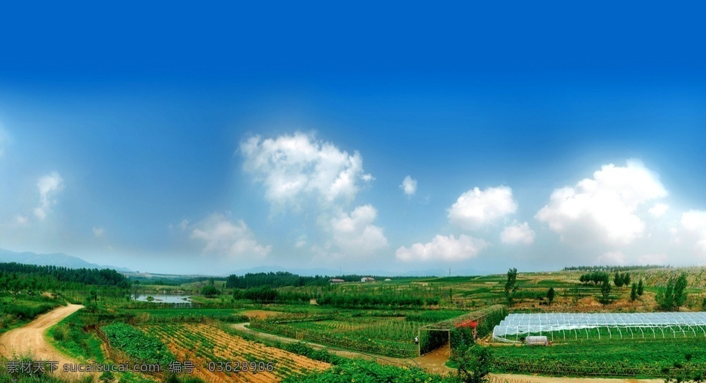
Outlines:
{"label": "faint greyish cloud low over the horizon, left of centre", "polygon": [[225,255],[239,258],[266,257],[271,245],[260,245],[244,221],[234,223],[222,214],[211,214],[194,225],[191,238],[203,240],[204,254]]}

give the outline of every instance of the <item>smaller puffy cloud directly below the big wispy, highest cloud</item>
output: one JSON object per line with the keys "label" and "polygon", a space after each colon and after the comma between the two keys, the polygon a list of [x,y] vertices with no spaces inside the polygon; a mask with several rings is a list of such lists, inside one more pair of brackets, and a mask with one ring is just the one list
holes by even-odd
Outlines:
{"label": "smaller puffy cloud directly below the big wispy, highest cloud", "polygon": [[333,243],[346,255],[361,256],[375,253],[388,245],[383,229],[373,225],[378,211],[371,205],[356,207],[350,214],[341,213],[331,219]]}

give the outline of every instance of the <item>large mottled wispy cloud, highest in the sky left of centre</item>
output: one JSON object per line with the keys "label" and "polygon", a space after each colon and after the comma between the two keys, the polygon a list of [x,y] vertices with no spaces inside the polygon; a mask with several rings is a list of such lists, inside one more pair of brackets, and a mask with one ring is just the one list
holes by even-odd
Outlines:
{"label": "large mottled wispy cloud, highest in the sky left of centre", "polygon": [[339,150],[330,142],[296,132],[277,138],[252,136],[240,144],[243,169],[265,186],[265,199],[278,207],[300,207],[316,197],[331,205],[353,200],[359,183],[370,182],[359,152]]}

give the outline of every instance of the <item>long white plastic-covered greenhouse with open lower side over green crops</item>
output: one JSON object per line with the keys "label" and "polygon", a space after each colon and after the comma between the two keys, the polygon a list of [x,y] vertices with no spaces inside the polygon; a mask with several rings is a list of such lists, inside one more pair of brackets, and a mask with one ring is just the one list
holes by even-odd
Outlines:
{"label": "long white plastic-covered greenhouse with open lower side over green crops", "polygon": [[706,312],[510,314],[493,329],[493,341],[706,338]]}

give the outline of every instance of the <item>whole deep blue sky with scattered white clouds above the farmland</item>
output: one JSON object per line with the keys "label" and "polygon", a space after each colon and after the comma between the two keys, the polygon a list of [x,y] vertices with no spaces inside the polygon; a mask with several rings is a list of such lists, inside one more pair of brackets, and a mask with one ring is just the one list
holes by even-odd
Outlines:
{"label": "whole deep blue sky with scattered white clouds above the farmland", "polygon": [[0,248],[706,262],[706,6],[0,6]]}

